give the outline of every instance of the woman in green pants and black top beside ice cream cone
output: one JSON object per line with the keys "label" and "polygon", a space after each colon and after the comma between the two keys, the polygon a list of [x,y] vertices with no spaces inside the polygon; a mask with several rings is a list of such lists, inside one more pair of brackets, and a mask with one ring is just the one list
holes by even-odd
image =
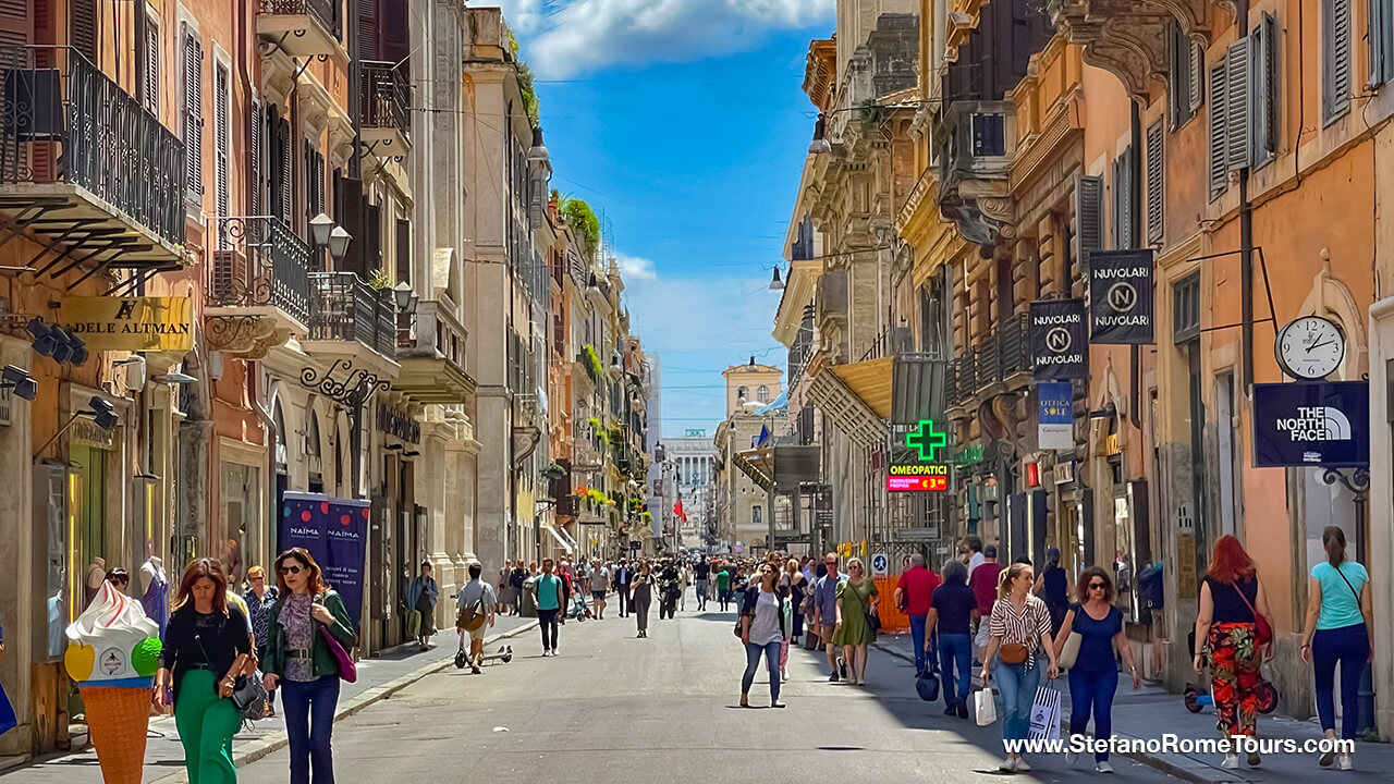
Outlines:
{"label": "woman in green pants and black top beside ice cream cone", "polygon": [[247,617],[227,604],[227,578],[215,558],[188,565],[164,629],[155,703],[174,704],[190,784],[233,784],[233,735],[243,725],[229,699],[255,668]]}

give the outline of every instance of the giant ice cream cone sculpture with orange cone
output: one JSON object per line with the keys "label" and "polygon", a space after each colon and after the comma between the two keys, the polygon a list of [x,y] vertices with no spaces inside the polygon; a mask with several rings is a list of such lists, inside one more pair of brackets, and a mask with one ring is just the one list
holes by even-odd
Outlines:
{"label": "giant ice cream cone sculpture with orange cone", "polygon": [[106,784],[139,784],[151,721],[151,677],[159,668],[159,626],[141,603],[103,583],[68,629],[63,657],[78,682]]}

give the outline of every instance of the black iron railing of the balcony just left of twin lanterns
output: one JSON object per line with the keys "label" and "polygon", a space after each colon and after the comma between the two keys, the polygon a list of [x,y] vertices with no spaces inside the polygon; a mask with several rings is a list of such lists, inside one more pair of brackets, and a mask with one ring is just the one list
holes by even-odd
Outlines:
{"label": "black iron railing of the balcony just left of twin lanterns", "polygon": [[273,306],[308,326],[309,246],[266,215],[219,218],[216,227],[208,306]]}

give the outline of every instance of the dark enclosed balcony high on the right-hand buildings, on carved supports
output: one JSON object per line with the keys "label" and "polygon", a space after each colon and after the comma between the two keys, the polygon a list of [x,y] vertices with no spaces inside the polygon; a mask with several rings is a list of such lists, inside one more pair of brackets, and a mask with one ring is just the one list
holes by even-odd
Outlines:
{"label": "dark enclosed balcony high on the right-hand buildings, on carved supports", "polygon": [[1011,198],[1016,131],[1012,105],[955,100],[948,105],[940,146],[940,212],[970,243],[990,246],[1013,222]]}

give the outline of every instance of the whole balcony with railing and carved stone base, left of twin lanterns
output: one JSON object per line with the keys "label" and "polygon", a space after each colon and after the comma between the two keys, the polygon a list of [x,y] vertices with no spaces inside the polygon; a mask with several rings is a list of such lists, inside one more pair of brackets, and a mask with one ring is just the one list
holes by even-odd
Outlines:
{"label": "whole balcony with railing and carved stone base, left of twin lanterns", "polygon": [[217,350],[258,356],[309,331],[311,250],[279,218],[220,218],[209,234],[205,311]]}

